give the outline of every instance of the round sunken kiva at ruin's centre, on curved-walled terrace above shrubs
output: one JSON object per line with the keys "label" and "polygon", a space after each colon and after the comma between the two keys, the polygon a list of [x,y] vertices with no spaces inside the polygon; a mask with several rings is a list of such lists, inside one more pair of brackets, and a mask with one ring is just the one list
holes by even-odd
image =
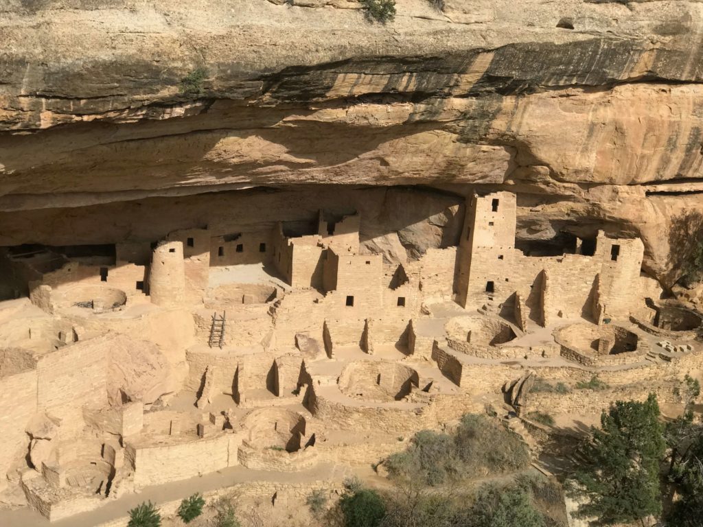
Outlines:
{"label": "round sunken kiva at ruin's centre, on curved-walled terrace above shrubs", "polygon": [[418,386],[413,368],[385,360],[358,360],[342,370],[339,388],[344,395],[366,401],[400,401]]}

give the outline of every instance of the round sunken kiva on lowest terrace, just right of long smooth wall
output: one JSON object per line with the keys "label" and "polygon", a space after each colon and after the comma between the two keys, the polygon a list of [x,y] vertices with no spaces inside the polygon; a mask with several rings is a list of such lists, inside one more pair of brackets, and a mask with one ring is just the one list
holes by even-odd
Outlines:
{"label": "round sunken kiva on lowest terrace, just right of long smooth wall", "polygon": [[297,452],[305,446],[306,424],[305,417],[283,408],[254,410],[243,420],[245,442],[256,450]]}

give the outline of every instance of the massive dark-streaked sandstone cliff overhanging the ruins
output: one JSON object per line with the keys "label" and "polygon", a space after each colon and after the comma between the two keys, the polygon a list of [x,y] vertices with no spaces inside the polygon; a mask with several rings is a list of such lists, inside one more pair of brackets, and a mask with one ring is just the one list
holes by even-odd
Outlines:
{"label": "massive dark-streaked sandstone cliff overhanging the ruins", "polygon": [[[351,0],[4,1],[0,245],[86,218],[119,218],[104,242],[146,238],[132,214],[157,196],[503,188],[520,237],[640,235],[672,285],[703,212],[703,4],[445,4],[399,0],[380,25]],[[370,221],[365,246],[398,261],[441,246],[441,214],[401,233]]]}

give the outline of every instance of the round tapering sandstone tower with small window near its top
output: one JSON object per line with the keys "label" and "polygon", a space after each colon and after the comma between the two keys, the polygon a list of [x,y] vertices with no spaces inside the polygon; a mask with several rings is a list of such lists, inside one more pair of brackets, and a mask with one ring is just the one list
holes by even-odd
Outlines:
{"label": "round tapering sandstone tower with small window near its top", "polygon": [[157,306],[182,306],[186,298],[183,242],[159,242],[151,255],[149,294]]}

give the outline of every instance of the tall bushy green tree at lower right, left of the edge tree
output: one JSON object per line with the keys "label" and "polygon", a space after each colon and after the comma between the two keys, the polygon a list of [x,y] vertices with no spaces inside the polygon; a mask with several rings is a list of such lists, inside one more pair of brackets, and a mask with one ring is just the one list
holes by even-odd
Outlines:
{"label": "tall bushy green tree at lower right, left of the edge tree", "polygon": [[659,462],[664,458],[664,431],[657,397],[616,401],[600,417],[583,445],[583,460],[571,480],[571,493],[588,502],[579,516],[595,516],[596,524],[643,521],[662,512]]}

